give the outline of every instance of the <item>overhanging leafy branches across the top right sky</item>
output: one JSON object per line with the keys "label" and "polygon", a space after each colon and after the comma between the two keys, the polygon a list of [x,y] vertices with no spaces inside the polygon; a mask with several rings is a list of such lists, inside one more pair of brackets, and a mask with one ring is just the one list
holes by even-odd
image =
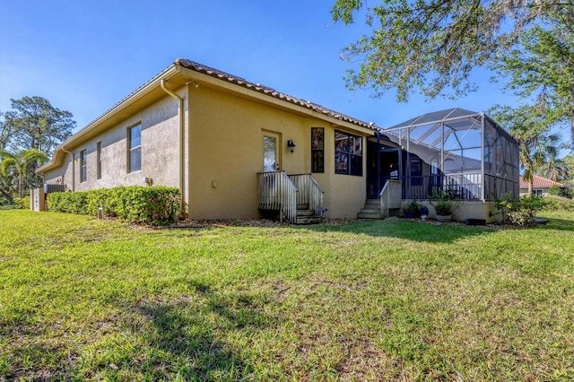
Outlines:
{"label": "overhanging leafy branches across the top right sky", "polygon": [[[396,89],[397,100],[406,100],[417,88],[430,98],[448,88],[453,97],[473,91],[469,75],[474,67],[497,60],[522,30],[546,14],[574,7],[574,0],[381,3],[365,9],[371,35],[342,51],[348,62],[359,60],[358,69],[348,70],[346,82],[352,90],[370,85],[376,95]],[[361,0],[336,0],[333,19],[352,23],[362,9]]]}

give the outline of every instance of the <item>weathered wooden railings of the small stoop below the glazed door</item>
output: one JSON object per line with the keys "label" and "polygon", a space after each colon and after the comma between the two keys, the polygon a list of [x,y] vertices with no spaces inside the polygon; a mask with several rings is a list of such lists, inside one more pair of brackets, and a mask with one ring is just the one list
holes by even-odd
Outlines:
{"label": "weathered wooden railings of the small stoop below the glazed door", "polygon": [[279,212],[280,220],[297,222],[297,205],[309,205],[323,213],[323,190],[310,174],[287,175],[283,171],[257,173],[258,208]]}

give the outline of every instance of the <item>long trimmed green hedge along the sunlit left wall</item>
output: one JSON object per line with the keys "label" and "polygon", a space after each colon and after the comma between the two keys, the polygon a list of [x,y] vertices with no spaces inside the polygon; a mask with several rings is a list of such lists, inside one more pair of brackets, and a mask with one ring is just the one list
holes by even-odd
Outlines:
{"label": "long trimmed green hedge along the sunlit left wall", "polygon": [[96,216],[101,207],[104,216],[121,221],[169,224],[181,215],[179,190],[164,186],[100,188],[89,191],[48,194],[48,208],[59,213]]}

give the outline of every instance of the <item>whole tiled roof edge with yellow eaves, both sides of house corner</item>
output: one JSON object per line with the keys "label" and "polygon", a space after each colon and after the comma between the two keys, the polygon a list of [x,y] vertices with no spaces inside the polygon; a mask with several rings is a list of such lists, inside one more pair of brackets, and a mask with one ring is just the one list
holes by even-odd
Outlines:
{"label": "whole tiled roof edge with yellow eaves, both sides of house corner", "polygon": [[[375,126],[372,122],[367,123],[361,121],[360,119],[349,117],[343,113],[336,112],[335,110],[327,109],[316,103],[300,100],[296,97],[292,97],[283,92],[276,91],[272,88],[261,85],[260,83],[248,82],[241,77],[227,74],[221,70],[214,69],[213,67],[202,65],[196,63],[195,61],[187,60],[184,58],[178,58],[172,65],[168,66],[160,74],[155,75],[150,81],[145,82],[142,86],[127,95],[126,98],[120,100],[116,105],[106,110],[100,117],[97,117],[87,126],[84,126],[77,133],[68,138],[64,143],[61,143],[56,148],[52,160],[44,166],[41,166],[36,171],[42,173],[51,169],[56,169],[63,163],[65,152],[67,152],[67,150],[74,149],[74,147],[82,144],[88,139],[93,138],[96,135],[100,135],[111,126],[120,123],[126,117],[129,117],[131,113],[137,112],[137,110],[145,107],[152,101],[160,100],[163,97],[168,97],[167,93],[161,89],[162,80],[170,83],[170,87],[172,89],[177,89],[187,84],[189,82],[188,80],[190,79],[193,81],[202,82],[202,79],[195,78],[196,76],[199,78],[202,75],[207,75],[216,80],[231,83],[232,85],[237,85],[241,88],[247,89],[248,91],[256,91],[257,93],[263,94],[263,98],[265,100],[274,99],[276,100],[275,103],[282,101],[287,102],[288,104],[294,105],[294,107],[291,107],[291,109],[302,108],[299,110],[307,110],[308,114],[312,114],[317,118],[330,120],[332,123],[334,122],[333,119],[335,119],[341,121],[343,125],[350,124],[347,125],[350,128],[356,126],[372,131],[380,130],[380,128]],[[204,79],[206,80],[206,77],[204,77]],[[222,82],[216,81],[217,85],[215,86],[224,87]],[[229,89],[229,85],[227,86]],[[253,94],[254,93],[248,94],[248,97],[255,98]],[[266,99],[266,97],[269,97],[269,99]],[[261,99],[261,97],[259,98]]]}

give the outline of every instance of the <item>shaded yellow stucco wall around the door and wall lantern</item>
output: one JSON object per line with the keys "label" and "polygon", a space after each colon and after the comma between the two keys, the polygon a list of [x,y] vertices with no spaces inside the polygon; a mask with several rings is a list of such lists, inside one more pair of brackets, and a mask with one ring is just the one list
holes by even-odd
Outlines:
{"label": "shaded yellow stucco wall around the door and wall lantern", "polygon": [[[260,217],[257,172],[263,170],[264,133],[280,135],[281,169],[309,173],[311,127],[325,128],[325,173],[313,176],[325,190],[327,216],[355,218],[361,210],[365,178],[335,175],[334,126],[202,86],[190,89],[189,100],[191,219]],[[290,139],[297,145],[293,153]]]}

